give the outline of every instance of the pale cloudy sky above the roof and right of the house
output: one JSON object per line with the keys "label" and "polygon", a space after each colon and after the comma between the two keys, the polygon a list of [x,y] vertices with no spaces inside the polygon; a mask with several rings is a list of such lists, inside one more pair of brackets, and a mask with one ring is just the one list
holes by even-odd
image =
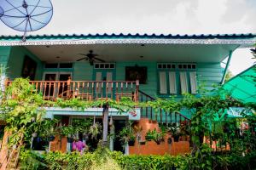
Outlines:
{"label": "pale cloudy sky above the roof and right of the house", "polygon": [[[1,1],[0,0],[0,4]],[[256,0],[52,0],[49,25],[31,34],[256,33]],[[0,22],[0,35],[15,35]],[[248,48],[237,49],[233,75],[253,65]]]}

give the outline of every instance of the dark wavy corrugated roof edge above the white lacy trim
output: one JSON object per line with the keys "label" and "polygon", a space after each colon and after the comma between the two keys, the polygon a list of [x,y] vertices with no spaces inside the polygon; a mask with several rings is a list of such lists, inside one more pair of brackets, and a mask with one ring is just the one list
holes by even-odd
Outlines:
{"label": "dark wavy corrugated roof edge above the white lacy trim", "polygon": [[[0,39],[2,40],[14,40],[17,38],[21,38],[22,36],[0,36]],[[246,34],[200,34],[200,35],[196,35],[196,34],[192,34],[192,35],[188,35],[188,34],[184,34],[184,35],[179,35],[179,34],[57,34],[57,35],[30,35],[26,37],[26,40],[29,39],[36,39],[36,38],[162,38],[162,39],[214,39],[214,38],[218,38],[218,39],[231,39],[231,38],[253,38],[256,37],[256,33],[246,33]]]}

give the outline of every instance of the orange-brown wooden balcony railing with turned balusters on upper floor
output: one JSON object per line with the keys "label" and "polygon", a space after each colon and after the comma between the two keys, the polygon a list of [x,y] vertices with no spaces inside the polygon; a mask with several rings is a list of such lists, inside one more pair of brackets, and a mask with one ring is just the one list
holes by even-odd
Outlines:
{"label": "orange-brown wooden balcony railing with turned balusters on upper floor", "polygon": [[[7,81],[9,86],[12,81]],[[131,97],[137,101],[139,81],[30,81],[44,99],[57,98],[84,100]]]}

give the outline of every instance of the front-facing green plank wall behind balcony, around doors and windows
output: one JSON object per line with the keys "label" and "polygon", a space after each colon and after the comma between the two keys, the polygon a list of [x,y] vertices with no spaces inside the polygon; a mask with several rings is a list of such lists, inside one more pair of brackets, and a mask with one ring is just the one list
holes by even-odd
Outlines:
{"label": "front-facing green plank wall behind balcony, around doors and windows", "polygon": [[[158,93],[157,62],[118,62],[115,68],[115,80],[125,81],[125,66],[134,65],[146,66],[148,69],[147,84],[140,84],[140,90],[154,98],[163,97]],[[73,80],[93,80],[93,72],[93,66],[89,65],[89,63],[75,62],[73,65]],[[197,63],[196,72],[198,85],[207,90],[212,89],[213,84],[218,84],[223,74],[219,63]]]}

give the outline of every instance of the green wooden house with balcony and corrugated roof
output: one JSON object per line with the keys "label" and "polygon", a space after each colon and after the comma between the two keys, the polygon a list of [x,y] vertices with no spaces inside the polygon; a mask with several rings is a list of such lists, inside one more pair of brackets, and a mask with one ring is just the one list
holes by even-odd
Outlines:
{"label": "green wooden house with balcony and corrugated roof", "polygon": [[[199,87],[222,84],[233,51],[252,47],[255,34],[140,35],[73,34],[0,37],[1,76],[8,86],[16,77],[29,77],[44,99],[84,100],[131,97],[135,101],[199,94]],[[223,71],[220,63],[228,57]],[[242,56],[241,56],[242,57]],[[242,59],[241,59],[242,60]],[[190,113],[154,112],[137,108],[137,114],[110,112],[117,126],[125,120],[169,123],[189,120]],[[49,117],[71,122],[76,116],[102,116],[101,108],[84,112],[49,108]]]}

